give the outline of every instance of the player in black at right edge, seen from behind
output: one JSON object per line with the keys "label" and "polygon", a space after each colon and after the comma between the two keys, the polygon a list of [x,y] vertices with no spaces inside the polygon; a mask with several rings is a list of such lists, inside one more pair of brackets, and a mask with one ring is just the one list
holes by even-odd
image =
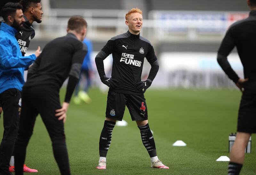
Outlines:
{"label": "player in black at right edge, seen from behind", "polygon": [[[218,63],[242,91],[235,143],[231,149],[228,175],[238,175],[244,163],[244,149],[252,133],[256,133],[256,0],[247,0],[249,17],[232,24],[218,51]],[[238,77],[227,57],[236,47],[244,67],[244,78]]]}

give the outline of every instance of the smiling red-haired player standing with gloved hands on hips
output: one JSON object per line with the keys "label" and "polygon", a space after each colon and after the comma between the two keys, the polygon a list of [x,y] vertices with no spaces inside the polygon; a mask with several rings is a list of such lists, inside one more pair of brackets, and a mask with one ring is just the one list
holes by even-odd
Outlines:
{"label": "smiling red-haired player standing with gloved hands on hips", "polygon": [[[169,167],[159,161],[156,154],[154,137],[148,125],[148,108],[143,93],[149,88],[159,69],[152,44],[142,36],[142,11],[131,9],[125,15],[125,24],[129,27],[126,33],[117,35],[101,49],[95,58],[102,83],[109,87],[106,119],[100,134],[100,159],[97,169],[106,169],[106,156],[112,139],[116,120],[122,120],[125,105],[132,120],[140,129],[142,143],[151,158],[151,168]],[[112,53],[113,67],[111,77],[106,77],[103,60]],[[141,81],[144,57],[151,65],[148,79]]]}

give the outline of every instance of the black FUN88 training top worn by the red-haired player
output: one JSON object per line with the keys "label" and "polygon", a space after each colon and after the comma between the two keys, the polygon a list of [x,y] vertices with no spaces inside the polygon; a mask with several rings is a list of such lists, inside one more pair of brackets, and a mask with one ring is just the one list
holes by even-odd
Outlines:
{"label": "black FUN88 training top worn by the red-haired player", "polygon": [[154,80],[159,69],[152,44],[140,34],[134,35],[129,31],[108,40],[95,58],[101,79],[105,76],[103,60],[110,54],[113,57],[111,77],[119,81],[118,86],[111,90],[124,94],[143,94],[136,88],[136,83],[141,81],[144,58],[151,65],[148,81]]}

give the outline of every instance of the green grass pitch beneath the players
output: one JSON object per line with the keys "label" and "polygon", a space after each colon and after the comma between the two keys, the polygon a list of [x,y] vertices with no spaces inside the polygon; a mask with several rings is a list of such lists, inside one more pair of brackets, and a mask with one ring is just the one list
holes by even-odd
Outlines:
{"label": "green grass pitch beneath the players", "polygon": [[[63,99],[65,90],[61,91]],[[107,170],[96,170],[99,136],[103,126],[107,94],[91,89],[92,104],[70,104],[65,133],[72,174],[227,174],[228,135],[236,131],[241,93],[237,90],[147,90],[150,128],[154,131],[157,154],[170,170],[150,168],[139,129],[124,114],[127,127],[115,127],[107,157]],[[139,106],[140,107],[140,106]],[[47,110],[47,109],[45,109]],[[0,121],[3,125],[3,120]],[[0,135],[3,133],[3,128]],[[183,140],[186,147],[173,147]],[[256,136],[252,153],[246,154],[241,175],[256,173]],[[34,134],[27,149],[26,164],[36,174],[59,174],[50,138],[37,117]]]}

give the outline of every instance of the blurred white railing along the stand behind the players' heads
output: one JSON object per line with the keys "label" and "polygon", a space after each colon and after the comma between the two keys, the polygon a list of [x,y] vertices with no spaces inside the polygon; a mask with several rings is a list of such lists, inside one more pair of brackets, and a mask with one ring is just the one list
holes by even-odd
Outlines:
{"label": "blurred white railing along the stand behind the players' heads", "polygon": [[[66,33],[68,18],[83,16],[88,22],[88,38],[106,41],[127,30],[124,10],[50,9],[43,15],[41,24],[34,23],[35,39],[52,39]],[[143,20],[141,34],[162,41],[219,42],[228,26],[245,18],[248,12],[222,11],[149,11]]]}

